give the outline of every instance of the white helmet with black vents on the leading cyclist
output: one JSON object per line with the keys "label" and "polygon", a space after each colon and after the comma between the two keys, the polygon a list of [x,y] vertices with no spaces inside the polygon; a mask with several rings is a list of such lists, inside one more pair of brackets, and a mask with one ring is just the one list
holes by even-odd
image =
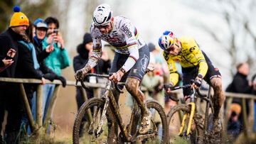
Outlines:
{"label": "white helmet with black vents on the leading cyclist", "polygon": [[100,4],[100,6],[97,6],[95,11],[93,12],[92,19],[94,21],[94,24],[96,26],[105,26],[107,23],[110,22],[110,19],[112,18],[112,13],[110,5],[108,4]]}

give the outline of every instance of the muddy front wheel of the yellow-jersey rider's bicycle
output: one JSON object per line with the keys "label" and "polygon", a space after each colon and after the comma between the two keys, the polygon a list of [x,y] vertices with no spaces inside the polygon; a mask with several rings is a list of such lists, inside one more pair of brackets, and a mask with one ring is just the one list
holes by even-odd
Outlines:
{"label": "muddy front wheel of the yellow-jersey rider's bicycle", "polygon": [[[202,139],[199,136],[201,129],[199,128],[200,126],[197,125],[198,119],[196,117],[198,117],[198,115],[196,113],[193,116],[191,132],[189,135],[186,135],[190,113],[191,109],[186,104],[174,106],[171,108],[171,111],[169,111],[167,121],[169,123],[169,138],[171,143],[198,143],[198,140]],[[184,114],[187,114],[187,118],[181,135],[178,135]]]}

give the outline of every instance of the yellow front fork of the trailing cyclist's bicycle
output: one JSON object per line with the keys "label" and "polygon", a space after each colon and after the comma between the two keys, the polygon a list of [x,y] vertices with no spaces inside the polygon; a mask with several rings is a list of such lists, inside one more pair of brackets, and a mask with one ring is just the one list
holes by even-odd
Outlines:
{"label": "yellow front fork of the trailing cyclist's bicycle", "polygon": [[[186,131],[186,135],[189,135],[190,131],[191,131],[191,126],[192,126],[192,122],[193,122],[193,115],[195,113],[195,110],[196,110],[196,105],[195,103],[193,102],[190,102],[188,104],[188,106],[191,106],[191,113],[189,115],[189,121],[188,121],[188,128],[187,128],[187,131]],[[188,113],[185,113],[183,118],[182,118],[182,123],[181,123],[181,128],[180,128],[180,131],[178,133],[178,135],[182,136],[183,135],[183,129],[185,127],[185,121],[186,121],[186,118],[188,116]]]}

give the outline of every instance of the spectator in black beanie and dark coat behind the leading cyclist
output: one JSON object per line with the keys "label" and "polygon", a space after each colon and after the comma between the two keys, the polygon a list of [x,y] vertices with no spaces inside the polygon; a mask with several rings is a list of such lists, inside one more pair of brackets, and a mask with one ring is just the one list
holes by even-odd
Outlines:
{"label": "spectator in black beanie and dark coat behind the leading cyclist", "polygon": [[[77,47],[78,55],[76,55],[73,59],[73,67],[75,72],[77,70],[82,69],[82,67],[85,67],[85,64],[89,60],[88,58],[90,57],[92,53],[92,37],[90,33],[85,33],[82,43],[80,43]],[[104,55],[104,54],[103,54]],[[102,55],[102,57],[103,57]],[[106,54],[105,54],[106,55]],[[108,70],[110,69],[110,60],[100,60],[99,64],[94,67],[90,72],[92,73],[97,73],[97,74],[107,74]],[[86,82],[90,82],[90,79],[86,79]],[[87,99],[90,99],[93,97],[93,89],[87,89],[86,90],[87,94]],[[78,104],[78,109],[80,106],[82,106],[83,102],[82,101],[82,94],[80,92],[80,89],[76,89],[76,101]],[[80,133],[82,135],[82,133]]]}

